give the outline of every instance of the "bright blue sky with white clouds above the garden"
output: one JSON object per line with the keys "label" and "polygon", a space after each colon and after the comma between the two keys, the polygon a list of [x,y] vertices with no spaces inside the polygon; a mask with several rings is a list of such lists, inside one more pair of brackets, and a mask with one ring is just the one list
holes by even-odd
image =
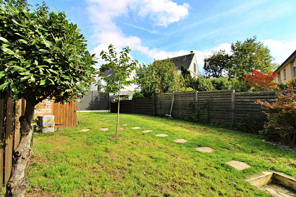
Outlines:
{"label": "bright blue sky with white clouds above the garden", "polygon": [[[41,0],[28,0],[41,4]],[[281,64],[296,50],[296,3],[291,1],[45,0],[64,11],[88,40],[91,53],[128,45],[131,57],[149,64],[194,51],[204,56],[257,35]],[[57,9],[56,9],[57,8]],[[98,60],[100,66],[103,61]]]}

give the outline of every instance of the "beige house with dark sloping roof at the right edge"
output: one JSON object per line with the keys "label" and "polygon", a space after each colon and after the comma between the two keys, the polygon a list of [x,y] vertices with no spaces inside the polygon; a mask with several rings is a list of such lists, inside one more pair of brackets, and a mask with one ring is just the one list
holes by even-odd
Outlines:
{"label": "beige house with dark sloping roof at the right edge", "polygon": [[296,77],[296,51],[292,53],[279,68],[275,70],[278,73],[276,83],[287,83],[290,79]]}

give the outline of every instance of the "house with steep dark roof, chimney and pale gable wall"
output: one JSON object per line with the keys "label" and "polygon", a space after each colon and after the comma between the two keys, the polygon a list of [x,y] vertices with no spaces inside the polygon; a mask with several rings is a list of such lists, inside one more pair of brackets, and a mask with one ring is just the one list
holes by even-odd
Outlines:
{"label": "house with steep dark roof, chimney and pale gable wall", "polygon": [[[169,58],[171,62],[175,64],[175,66],[178,68],[178,73],[181,74],[181,66],[185,66],[186,69],[188,69],[191,73],[191,76],[199,76],[200,73],[198,71],[197,67],[197,61],[195,54],[193,51],[190,51],[190,54],[185,55],[185,56],[178,56],[174,58]],[[160,60],[164,61],[164,60]]]}

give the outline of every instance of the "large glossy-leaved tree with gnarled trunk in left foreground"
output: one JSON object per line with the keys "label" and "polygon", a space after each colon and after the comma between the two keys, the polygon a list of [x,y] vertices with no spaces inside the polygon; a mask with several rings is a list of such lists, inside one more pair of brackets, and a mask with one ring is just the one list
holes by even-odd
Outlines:
{"label": "large glossy-leaved tree with gnarled trunk in left foreground", "polygon": [[32,154],[35,105],[53,97],[66,103],[85,95],[96,63],[64,12],[49,12],[45,4],[30,10],[20,2],[0,0],[0,99],[26,100],[6,185],[6,196],[14,197],[24,196],[30,184],[24,173]]}

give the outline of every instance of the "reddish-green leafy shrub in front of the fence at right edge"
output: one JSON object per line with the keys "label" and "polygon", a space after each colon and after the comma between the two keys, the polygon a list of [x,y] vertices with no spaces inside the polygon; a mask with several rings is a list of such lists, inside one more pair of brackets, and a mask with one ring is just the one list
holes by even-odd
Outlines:
{"label": "reddish-green leafy shrub in front of the fence at right edge", "polygon": [[257,100],[262,105],[263,113],[267,116],[262,133],[277,133],[281,139],[288,138],[290,148],[293,148],[296,139],[296,86],[285,88],[277,93],[276,99],[271,102]]}

